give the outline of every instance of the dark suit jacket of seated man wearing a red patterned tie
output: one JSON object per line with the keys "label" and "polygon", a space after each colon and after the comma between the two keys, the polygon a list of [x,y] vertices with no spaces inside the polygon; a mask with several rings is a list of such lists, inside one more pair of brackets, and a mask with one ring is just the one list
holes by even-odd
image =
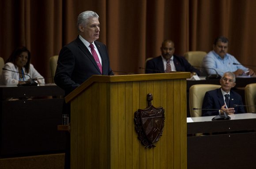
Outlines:
{"label": "dark suit jacket of seated man wearing a red patterned tie", "polygon": [[[196,72],[200,75],[200,70],[197,70],[182,56],[173,55],[173,62],[177,71],[181,72]],[[148,60],[146,65],[146,73],[165,73],[162,57],[158,56]]]}

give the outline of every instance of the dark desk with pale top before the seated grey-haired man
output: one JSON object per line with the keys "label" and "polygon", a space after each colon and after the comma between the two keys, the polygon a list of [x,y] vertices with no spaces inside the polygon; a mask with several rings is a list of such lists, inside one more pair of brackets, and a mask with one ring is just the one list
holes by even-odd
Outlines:
{"label": "dark desk with pale top before the seated grey-haired man", "polygon": [[[188,169],[255,169],[256,114],[187,118]],[[195,133],[218,132],[192,136]]]}

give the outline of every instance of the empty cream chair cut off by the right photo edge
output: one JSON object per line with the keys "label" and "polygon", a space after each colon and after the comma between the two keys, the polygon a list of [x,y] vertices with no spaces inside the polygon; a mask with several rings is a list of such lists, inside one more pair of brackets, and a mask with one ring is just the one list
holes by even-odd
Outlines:
{"label": "empty cream chair cut off by the right photo edge", "polygon": [[255,113],[256,106],[256,83],[247,84],[245,86],[245,105],[248,113]]}

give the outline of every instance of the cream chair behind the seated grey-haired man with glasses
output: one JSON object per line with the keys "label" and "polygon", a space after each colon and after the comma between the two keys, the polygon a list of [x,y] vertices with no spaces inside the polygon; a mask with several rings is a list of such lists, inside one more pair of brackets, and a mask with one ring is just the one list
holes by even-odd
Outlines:
{"label": "cream chair behind the seated grey-haired man with glasses", "polygon": [[217,84],[195,84],[189,88],[189,110],[191,117],[201,117],[201,110],[193,110],[193,108],[202,108],[203,97],[206,92],[220,88]]}

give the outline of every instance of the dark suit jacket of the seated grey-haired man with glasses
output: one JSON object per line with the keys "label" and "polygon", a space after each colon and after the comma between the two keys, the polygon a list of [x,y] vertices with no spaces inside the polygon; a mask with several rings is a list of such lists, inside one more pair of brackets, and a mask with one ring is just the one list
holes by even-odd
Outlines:
{"label": "dark suit jacket of the seated grey-haired man with glasses", "polygon": [[[211,90],[205,93],[203,98],[203,109],[220,109],[224,105],[224,99],[221,89]],[[242,97],[234,91],[230,91],[230,107],[234,104],[243,105]],[[245,113],[244,107],[234,107],[235,114]],[[218,115],[218,110],[202,110],[202,116],[215,116]]]}

